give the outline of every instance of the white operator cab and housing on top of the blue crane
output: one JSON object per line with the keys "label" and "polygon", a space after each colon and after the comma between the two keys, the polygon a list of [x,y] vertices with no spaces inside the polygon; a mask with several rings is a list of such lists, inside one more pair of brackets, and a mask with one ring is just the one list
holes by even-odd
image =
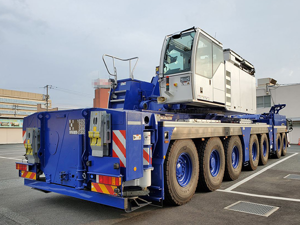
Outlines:
{"label": "white operator cab and housing on top of the blue crane", "polygon": [[200,28],[167,35],[160,54],[158,103],[255,113],[254,66]]}

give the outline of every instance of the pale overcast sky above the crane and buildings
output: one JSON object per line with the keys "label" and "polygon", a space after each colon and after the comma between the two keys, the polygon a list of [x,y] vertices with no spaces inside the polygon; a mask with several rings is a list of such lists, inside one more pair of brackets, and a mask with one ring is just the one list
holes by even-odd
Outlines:
{"label": "pale overcast sky above the crane and buildings", "polygon": [[[139,57],[150,81],[166,34],[198,26],[251,62],[256,78],[300,82],[298,0],[0,0],[0,88],[45,93],[46,84],[93,95],[101,56]],[[118,78],[127,78],[120,64]],[[53,103],[92,97],[49,91]]]}

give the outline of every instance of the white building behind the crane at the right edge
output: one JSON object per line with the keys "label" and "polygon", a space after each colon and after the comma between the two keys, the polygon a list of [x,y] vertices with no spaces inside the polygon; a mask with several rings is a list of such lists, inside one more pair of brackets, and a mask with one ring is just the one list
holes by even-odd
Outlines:
{"label": "white building behind the crane at the right edge", "polygon": [[290,143],[297,144],[300,138],[300,84],[275,84],[271,78],[257,79],[256,113],[268,112],[274,104],[286,104],[279,114],[293,121],[293,130],[288,134]]}

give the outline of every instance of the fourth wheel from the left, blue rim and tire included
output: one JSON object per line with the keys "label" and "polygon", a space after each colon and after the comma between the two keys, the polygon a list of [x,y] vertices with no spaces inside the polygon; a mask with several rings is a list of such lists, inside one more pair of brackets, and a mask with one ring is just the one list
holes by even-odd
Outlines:
{"label": "fourth wheel from the left, blue rim and tire included", "polygon": [[249,164],[247,168],[250,170],[255,170],[258,166],[259,159],[259,143],[256,134],[251,134],[249,140]]}

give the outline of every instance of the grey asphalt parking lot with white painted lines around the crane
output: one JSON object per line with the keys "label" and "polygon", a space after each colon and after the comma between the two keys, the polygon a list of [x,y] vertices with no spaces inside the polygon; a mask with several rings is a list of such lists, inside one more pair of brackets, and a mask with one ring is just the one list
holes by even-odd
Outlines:
{"label": "grey asphalt parking lot with white painted lines around the crane", "polygon": [[[300,179],[283,178],[300,175],[298,145],[255,171],[242,171],[237,180],[223,181],[217,191],[196,192],[185,205],[149,205],[130,213],[24,186],[15,169],[22,154],[22,144],[0,144],[0,224],[300,224]],[[279,208],[267,217],[224,209],[237,201]]]}

